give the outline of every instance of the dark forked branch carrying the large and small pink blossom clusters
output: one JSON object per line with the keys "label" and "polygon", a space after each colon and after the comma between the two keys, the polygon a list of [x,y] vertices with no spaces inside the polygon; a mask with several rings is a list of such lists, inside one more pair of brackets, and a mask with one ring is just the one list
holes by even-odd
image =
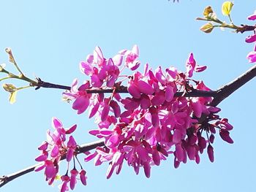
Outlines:
{"label": "dark forked branch carrying the large and small pink blossom clusters", "polygon": [[[249,80],[252,80],[254,77],[256,77],[256,65],[252,66],[251,69],[249,69],[247,72],[244,72],[244,74],[241,74],[241,76],[237,77],[235,80],[227,83],[226,85],[223,85],[221,88],[217,89],[217,91],[192,91],[189,93],[183,93],[183,92],[178,92],[176,93],[175,96],[212,96],[214,97],[213,101],[211,101],[211,106],[217,106],[221,101],[226,99],[228,96],[230,96],[233,92],[238,90],[238,88],[241,88],[246,82],[249,82]],[[60,89],[67,89],[69,90],[70,87],[64,86],[64,85],[56,85],[52,84],[50,82],[43,82],[42,85],[39,85],[39,87],[42,88],[60,88]],[[124,87],[125,88],[125,87]],[[123,89],[124,92],[119,92],[119,93],[128,93],[127,88],[126,90]],[[87,91],[88,93],[112,93],[113,89],[94,89],[94,90],[89,90]],[[96,142],[91,142],[85,145],[80,145],[78,147],[77,153],[84,153],[89,150],[93,150],[96,147],[104,146],[104,141],[99,140]],[[64,155],[61,160],[65,159],[66,156]],[[34,166],[29,166],[26,169],[22,169],[18,172],[4,175],[0,177],[0,188],[4,186],[5,184],[9,183],[12,180],[15,180],[16,178],[27,174],[29,172],[33,172],[34,169],[41,164],[35,164]]]}

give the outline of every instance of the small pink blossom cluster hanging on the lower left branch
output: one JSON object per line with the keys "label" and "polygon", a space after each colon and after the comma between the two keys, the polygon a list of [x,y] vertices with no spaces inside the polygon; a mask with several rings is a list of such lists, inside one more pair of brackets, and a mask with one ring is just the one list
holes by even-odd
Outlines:
{"label": "small pink blossom cluster hanging on the lower left branch", "polygon": [[[55,128],[55,130],[53,132],[48,130],[47,141],[43,142],[42,145],[38,147],[41,154],[38,155],[35,160],[43,163],[37,166],[35,171],[38,172],[45,169],[45,177],[49,185],[52,185],[54,180],[60,177],[62,181],[61,192],[68,191],[68,183],[70,189],[73,190],[75,188],[78,174],[83,185],[86,185],[86,171],[81,167],[80,172],[78,172],[78,170],[75,168],[75,159],[78,161],[75,153],[75,150],[78,147],[77,142],[75,142],[75,139],[72,136],[69,136],[69,139],[66,140],[66,135],[72,134],[77,126],[74,125],[68,129],[64,129],[61,121],[57,118],[53,118],[52,126]],[[68,165],[72,158],[74,160],[74,168],[70,170],[70,176],[68,169],[66,174],[62,176],[58,175],[59,161],[61,161],[63,158],[66,158]]]}

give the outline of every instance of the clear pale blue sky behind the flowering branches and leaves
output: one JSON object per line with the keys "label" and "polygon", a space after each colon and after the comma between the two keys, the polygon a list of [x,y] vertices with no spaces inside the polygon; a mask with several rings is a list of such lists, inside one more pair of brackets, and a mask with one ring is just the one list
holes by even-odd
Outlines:
{"label": "clear pale blue sky behind the flowering branches and leaves", "polygon": [[[193,52],[198,64],[208,66],[206,72],[196,74],[195,78],[217,89],[252,66],[246,54],[253,49],[253,45],[244,42],[248,34],[219,29],[203,34],[199,30],[204,22],[195,18],[201,17],[208,5],[219,18],[224,18],[222,2],[1,1],[0,62],[6,63],[7,69],[13,69],[4,52],[5,47],[12,47],[16,61],[29,77],[70,85],[75,77],[80,82],[85,80],[78,64],[95,46],[102,47],[108,58],[118,50],[137,44],[140,60],[153,68],[161,65],[184,70],[187,56]],[[254,25],[246,17],[256,9],[255,0],[236,0],[234,4],[234,22]],[[234,144],[227,144],[217,136],[214,163],[205,153],[199,165],[189,161],[174,169],[172,156],[161,166],[152,168],[150,179],[143,172],[135,175],[132,167],[125,165],[121,174],[113,174],[110,180],[105,178],[107,164],[95,167],[92,162],[84,163],[88,185],[79,184],[76,191],[254,191],[255,85],[252,80],[219,105],[222,117],[234,126],[230,134]],[[34,157],[39,154],[37,146],[45,140],[54,116],[67,127],[78,123],[75,137],[80,143],[94,141],[88,134],[96,128],[93,120],[89,120],[86,113],[76,115],[70,104],[61,101],[60,90],[20,91],[17,102],[12,105],[3,90],[0,98],[0,175],[35,164]],[[32,172],[8,183],[1,191],[59,191],[57,186],[50,187],[44,180],[43,172]]]}

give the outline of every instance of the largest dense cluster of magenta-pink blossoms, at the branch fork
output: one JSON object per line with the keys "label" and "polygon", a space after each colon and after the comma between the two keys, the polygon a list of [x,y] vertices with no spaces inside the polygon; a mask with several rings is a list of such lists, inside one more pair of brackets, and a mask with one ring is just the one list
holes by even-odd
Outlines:
{"label": "largest dense cluster of magenta-pink blossoms, at the branch fork", "polygon": [[[178,72],[171,66],[155,71],[148,64],[144,72],[121,75],[124,68],[138,69],[138,46],[121,50],[113,58],[104,58],[96,47],[93,55],[80,63],[81,71],[91,80],[78,87],[72,82],[71,91],[64,98],[74,100],[72,108],[78,114],[89,109],[89,118],[95,117],[97,129],[89,131],[105,139],[105,147],[97,147],[85,161],[94,159],[95,165],[109,161],[107,178],[116,170],[121,172],[124,161],[138,174],[143,167],[150,177],[151,166],[159,166],[168,155],[174,155],[174,166],[186,163],[187,158],[200,162],[200,153],[207,148],[208,158],[214,161],[214,134],[233,143],[229,131],[233,128],[227,119],[219,118],[218,107],[212,107],[211,97],[176,96],[177,92],[211,91],[203,81],[190,79],[194,72],[203,72],[206,66],[196,64],[191,53],[186,62],[187,72]],[[126,77],[119,80],[119,77]],[[120,90],[127,82],[129,96],[123,98]],[[112,88],[110,96],[105,88]],[[92,93],[93,91],[102,93]]]}

